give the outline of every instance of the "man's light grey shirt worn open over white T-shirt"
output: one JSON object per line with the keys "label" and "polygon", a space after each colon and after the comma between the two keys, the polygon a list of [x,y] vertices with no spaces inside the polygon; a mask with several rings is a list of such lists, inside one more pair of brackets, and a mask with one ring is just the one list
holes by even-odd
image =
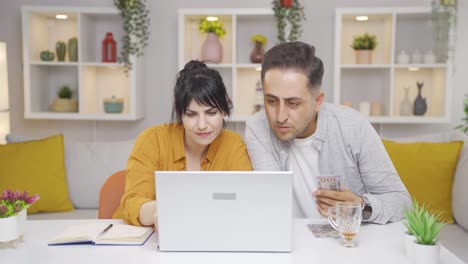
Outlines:
{"label": "man's light grey shirt worn open over white T-shirt", "polygon": [[[399,221],[411,197],[383,143],[367,119],[356,110],[324,103],[312,135],[323,175],[343,175],[345,186],[372,206],[369,222]],[[245,143],[252,166],[261,171],[286,171],[290,142],[281,141],[268,125],[265,112],[249,118]],[[312,194],[311,194],[312,195]]]}

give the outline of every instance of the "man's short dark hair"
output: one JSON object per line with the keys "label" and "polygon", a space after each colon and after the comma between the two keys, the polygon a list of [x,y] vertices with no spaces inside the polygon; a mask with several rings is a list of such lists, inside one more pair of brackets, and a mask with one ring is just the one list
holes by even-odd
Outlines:
{"label": "man's short dark hair", "polygon": [[286,42],[271,48],[263,57],[262,81],[265,73],[273,68],[297,69],[309,80],[311,90],[322,86],[323,63],[315,56],[315,47],[303,42]]}

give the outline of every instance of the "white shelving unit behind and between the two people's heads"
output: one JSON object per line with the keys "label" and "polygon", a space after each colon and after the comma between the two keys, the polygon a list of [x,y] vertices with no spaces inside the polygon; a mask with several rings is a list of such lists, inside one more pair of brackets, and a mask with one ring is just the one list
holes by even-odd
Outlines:
{"label": "white shelving unit behind and between the two people's heads", "polygon": [[250,63],[254,43],[252,35],[262,34],[268,41],[265,51],[276,43],[276,22],[273,11],[265,9],[179,9],[179,69],[191,59],[201,60],[205,33],[198,30],[201,18],[216,16],[224,23],[226,35],[221,38],[223,60],[209,64],[223,77],[234,109],[230,118],[243,122],[255,110],[255,88],[260,80],[258,63]]}

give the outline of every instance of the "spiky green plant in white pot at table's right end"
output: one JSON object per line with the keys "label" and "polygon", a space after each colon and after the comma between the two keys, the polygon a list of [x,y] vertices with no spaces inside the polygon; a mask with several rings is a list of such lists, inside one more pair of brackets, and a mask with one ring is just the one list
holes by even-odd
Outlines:
{"label": "spiky green plant in white pot at table's right end", "polygon": [[440,260],[440,244],[437,235],[444,223],[439,222],[441,213],[431,213],[424,205],[413,202],[413,208],[405,213],[405,226],[414,240],[409,256],[414,263],[437,264]]}

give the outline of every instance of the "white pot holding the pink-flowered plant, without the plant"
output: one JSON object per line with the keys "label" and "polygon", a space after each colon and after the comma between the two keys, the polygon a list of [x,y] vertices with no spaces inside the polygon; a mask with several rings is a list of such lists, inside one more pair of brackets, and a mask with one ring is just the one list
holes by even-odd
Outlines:
{"label": "white pot holding the pink-flowered plant, without the plant", "polygon": [[0,218],[0,242],[10,242],[24,234],[26,209],[15,216]]}

